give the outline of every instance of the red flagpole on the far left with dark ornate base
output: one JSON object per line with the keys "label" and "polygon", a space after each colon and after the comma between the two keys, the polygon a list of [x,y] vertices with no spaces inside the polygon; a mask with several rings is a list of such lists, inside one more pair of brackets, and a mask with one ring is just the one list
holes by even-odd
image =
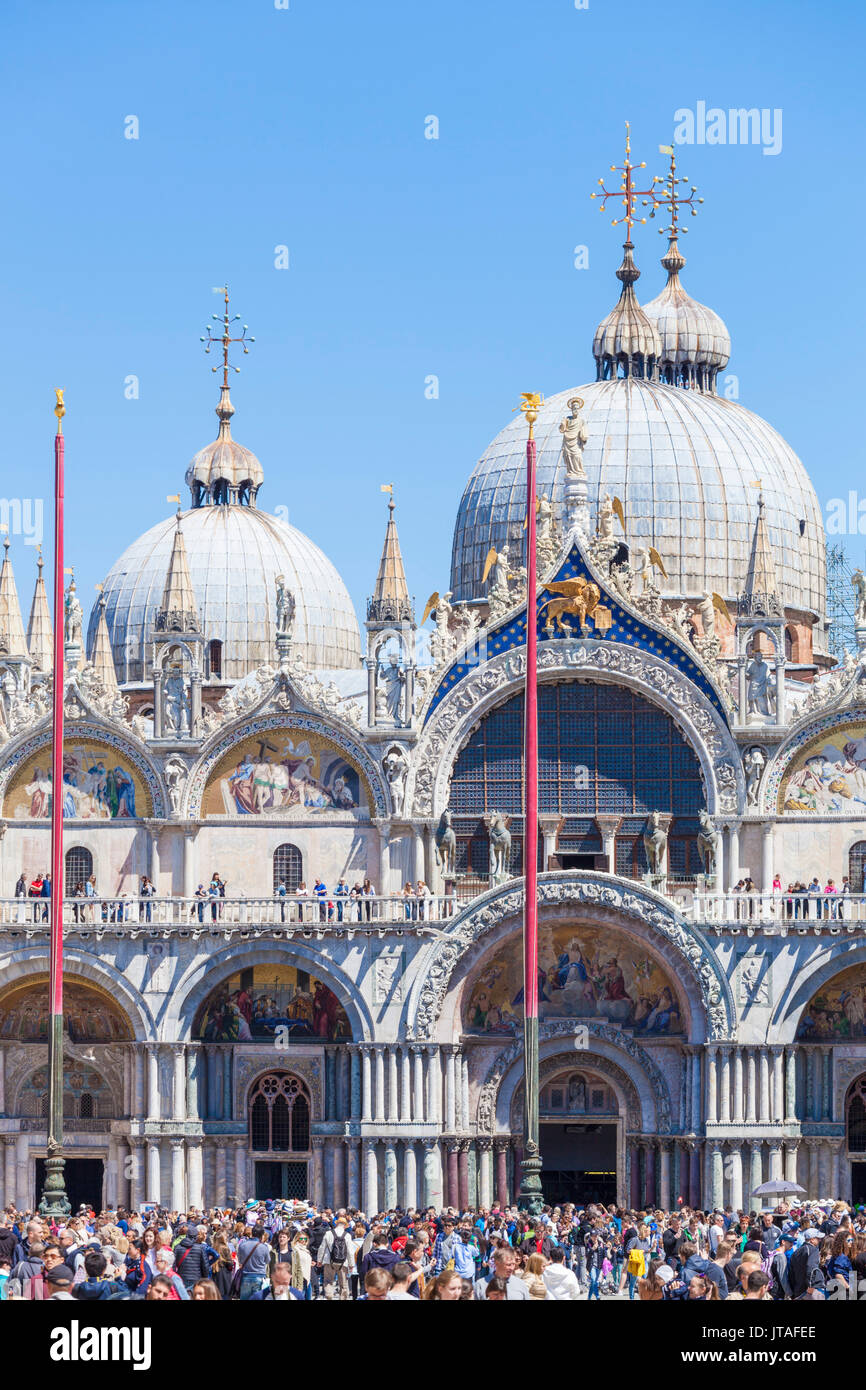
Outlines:
{"label": "red flagpole on the far left with dark ornate base", "polygon": [[51,733],[51,897],[49,956],[49,1143],[46,1179],[39,1211],[43,1216],[65,1216],[70,1201],[65,1193],[63,1156],[63,692],[64,692],[64,441],[63,391],[57,392],[57,434],[54,435],[54,723]]}

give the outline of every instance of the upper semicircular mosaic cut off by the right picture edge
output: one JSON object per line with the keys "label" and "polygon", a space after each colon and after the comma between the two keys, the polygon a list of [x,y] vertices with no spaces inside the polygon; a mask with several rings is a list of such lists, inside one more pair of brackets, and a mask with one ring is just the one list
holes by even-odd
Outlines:
{"label": "upper semicircular mosaic cut off by the right picture edge", "polygon": [[845,724],[809,744],[791,764],[780,810],[863,815],[866,808],[866,724]]}

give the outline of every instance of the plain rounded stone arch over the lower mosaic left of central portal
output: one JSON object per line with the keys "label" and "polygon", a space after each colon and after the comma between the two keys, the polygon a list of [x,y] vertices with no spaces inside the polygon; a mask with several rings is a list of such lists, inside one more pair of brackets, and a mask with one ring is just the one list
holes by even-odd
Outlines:
{"label": "plain rounded stone arch over the lower mosaic left of central portal", "polygon": [[211,991],[240,970],[265,965],[296,966],[321,980],[343,1006],[353,1041],[373,1040],[373,1015],[357,984],[342,966],[322,955],[321,948],[300,941],[272,947],[260,941],[239,941],[214,955],[195,959],[171,994],[160,1040],[192,1041],[193,1020]]}

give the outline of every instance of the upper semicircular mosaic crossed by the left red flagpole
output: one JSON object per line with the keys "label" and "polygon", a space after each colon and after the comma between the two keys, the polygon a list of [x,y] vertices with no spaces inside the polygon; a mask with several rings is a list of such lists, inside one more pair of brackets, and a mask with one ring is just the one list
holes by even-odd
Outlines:
{"label": "upper semicircular mosaic crossed by the left red flagpole", "polygon": [[[51,745],[46,744],[13,777],[4,815],[46,820],[51,795]],[[63,815],[70,820],[135,820],[150,815],[150,795],[115,748],[72,738],[63,751]]]}

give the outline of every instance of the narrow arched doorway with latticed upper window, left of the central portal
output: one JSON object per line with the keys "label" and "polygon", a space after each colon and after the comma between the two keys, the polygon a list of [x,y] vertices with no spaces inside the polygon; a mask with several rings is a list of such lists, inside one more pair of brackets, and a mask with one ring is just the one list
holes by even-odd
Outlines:
{"label": "narrow arched doorway with latticed upper window, left of the central portal", "polygon": [[268,1072],[253,1086],[249,1136],[256,1197],[307,1197],[310,1119],[310,1093],[292,1072]]}

